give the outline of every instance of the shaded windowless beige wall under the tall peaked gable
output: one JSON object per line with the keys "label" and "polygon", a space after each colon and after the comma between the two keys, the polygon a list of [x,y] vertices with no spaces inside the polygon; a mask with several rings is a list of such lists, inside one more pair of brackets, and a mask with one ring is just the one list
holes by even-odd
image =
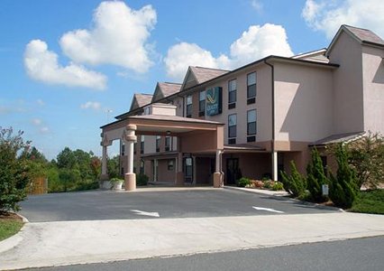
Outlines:
{"label": "shaded windowless beige wall under the tall peaked gable", "polygon": [[334,70],[334,134],[359,132],[363,126],[361,45],[341,33],[329,60],[340,64]]}

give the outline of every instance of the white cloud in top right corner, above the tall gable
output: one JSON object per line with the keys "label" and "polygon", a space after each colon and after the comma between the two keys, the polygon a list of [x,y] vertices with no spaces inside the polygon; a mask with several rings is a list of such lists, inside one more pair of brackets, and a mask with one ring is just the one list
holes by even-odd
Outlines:
{"label": "white cloud in top right corner, above the tall gable", "polygon": [[382,0],[306,0],[302,10],[306,23],[331,39],[342,24],[368,28],[384,37]]}

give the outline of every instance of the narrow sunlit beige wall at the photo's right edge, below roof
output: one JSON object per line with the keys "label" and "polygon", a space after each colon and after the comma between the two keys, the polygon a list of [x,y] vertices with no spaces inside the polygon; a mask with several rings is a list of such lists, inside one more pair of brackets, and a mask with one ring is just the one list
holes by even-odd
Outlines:
{"label": "narrow sunlit beige wall at the photo's right edge, below roof", "polygon": [[364,131],[384,133],[384,50],[363,46]]}

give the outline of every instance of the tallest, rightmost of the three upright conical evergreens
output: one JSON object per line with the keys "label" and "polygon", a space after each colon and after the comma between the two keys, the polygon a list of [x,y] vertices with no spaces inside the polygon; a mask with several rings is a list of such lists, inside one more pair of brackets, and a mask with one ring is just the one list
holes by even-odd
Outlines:
{"label": "tallest, rightmost of the three upright conical evergreens", "polygon": [[358,191],[356,175],[348,164],[348,154],[343,145],[338,145],[335,150],[337,161],[336,176],[331,173],[329,198],[337,207],[348,209],[352,207]]}

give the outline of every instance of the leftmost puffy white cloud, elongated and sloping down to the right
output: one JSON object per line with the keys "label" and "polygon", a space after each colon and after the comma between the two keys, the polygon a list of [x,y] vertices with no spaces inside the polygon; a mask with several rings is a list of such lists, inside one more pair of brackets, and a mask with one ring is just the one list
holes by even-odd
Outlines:
{"label": "leftmost puffy white cloud, elongated and sloping down to the right", "polygon": [[24,66],[32,79],[45,83],[105,89],[106,78],[103,74],[72,62],[66,67],[60,66],[58,55],[49,51],[47,43],[41,40],[32,40],[27,44]]}

